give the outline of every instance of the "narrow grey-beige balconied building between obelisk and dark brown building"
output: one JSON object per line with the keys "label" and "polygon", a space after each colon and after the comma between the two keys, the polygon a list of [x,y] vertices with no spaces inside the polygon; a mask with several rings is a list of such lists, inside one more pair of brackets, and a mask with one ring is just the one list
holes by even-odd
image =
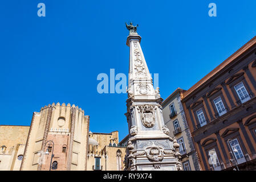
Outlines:
{"label": "narrow grey-beige balconied building between obelisk and dark brown building", "polygon": [[175,137],[180,144],[182,169],[184,171],[199,171],[200,165],[181,103],[184,91],[178,88],[170,94],[161,104],[162,113],[164,123],[170,131],[168,135],[172,138]]}

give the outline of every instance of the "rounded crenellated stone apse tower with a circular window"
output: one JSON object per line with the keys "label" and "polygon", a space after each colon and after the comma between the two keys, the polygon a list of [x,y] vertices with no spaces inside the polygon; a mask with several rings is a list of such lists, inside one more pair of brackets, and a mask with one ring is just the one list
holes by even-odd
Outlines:
{"label": "rounded crenellated stone apse tower with a circular window", "polygon": [[70,104],[34,112],[21,170],[86,170],[89,121],[82,109]]}

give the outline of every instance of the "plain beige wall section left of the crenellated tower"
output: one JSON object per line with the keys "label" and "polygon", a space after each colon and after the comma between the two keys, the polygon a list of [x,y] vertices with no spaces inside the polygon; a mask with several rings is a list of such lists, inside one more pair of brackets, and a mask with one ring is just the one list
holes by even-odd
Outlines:
{"label": "plain beige wall section left of the crenellated tower", "polygon": [[0,171],[21,167],[29,126],[0,125]]}

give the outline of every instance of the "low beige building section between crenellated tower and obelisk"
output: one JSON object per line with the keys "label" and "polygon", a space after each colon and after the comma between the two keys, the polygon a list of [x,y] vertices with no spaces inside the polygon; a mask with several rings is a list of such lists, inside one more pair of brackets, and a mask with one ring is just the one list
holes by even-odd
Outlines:
{"label": "low beige building section between crenellated tower and obelisk", "polygon": [[[88,171],[123,171],[125,147],[124,139],[119,143],[118,131],[111,133],[89,132],[87,155]],[[125,137],[128,139],[128,137]]]}

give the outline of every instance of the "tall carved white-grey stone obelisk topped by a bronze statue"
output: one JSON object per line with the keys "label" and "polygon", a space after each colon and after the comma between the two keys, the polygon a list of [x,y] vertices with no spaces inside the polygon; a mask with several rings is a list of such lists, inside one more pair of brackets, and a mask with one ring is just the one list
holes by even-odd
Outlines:
{"label": "tall carved white-grey stone obelisk topped by a bronze statue", "polygon": [[[126,24],[126,23],[125,23]],[[127,46],[130,47],[127,122],[129,142],[125,169],[181,170],[179,144],[168,136],[164,125],[159,88],[154,89],[137,26],[126,24],[129,30]]]}

